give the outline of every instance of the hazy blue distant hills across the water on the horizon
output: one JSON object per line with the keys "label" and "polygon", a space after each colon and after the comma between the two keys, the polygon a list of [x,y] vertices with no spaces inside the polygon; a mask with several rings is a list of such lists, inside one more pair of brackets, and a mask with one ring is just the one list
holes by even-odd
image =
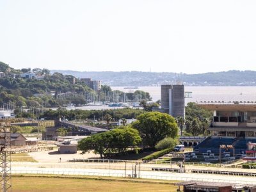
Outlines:
{"label": "hazy blue distant hills across the water on the horizon", "polygon": [[175,74],[172,72],[79,72],[72,70],[51,70],[75,77],[88,77],[109,82],[111,86],[152,86],[156,84],[183,81],[188,86],[255,86],[256,72],[251,70],[230,70],[205,74]]}

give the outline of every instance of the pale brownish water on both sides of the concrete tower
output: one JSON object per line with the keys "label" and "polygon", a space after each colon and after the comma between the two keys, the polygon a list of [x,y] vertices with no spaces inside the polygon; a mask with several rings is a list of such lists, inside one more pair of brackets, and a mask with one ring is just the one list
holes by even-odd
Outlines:
{"label": "pale brownish water on both sides of the concrete tower", "polygon": [[[149,92],[154,101],[161,99],[161,86],[140,86],[138,89],[124,89],[121,86],[113,86],[112,90],[122,92],[135,92],[142,90]],[[256,101],[256,86],[185,86],[185,92],[192,92],[192,98],[186,98],[188,102],[202,101]]]}

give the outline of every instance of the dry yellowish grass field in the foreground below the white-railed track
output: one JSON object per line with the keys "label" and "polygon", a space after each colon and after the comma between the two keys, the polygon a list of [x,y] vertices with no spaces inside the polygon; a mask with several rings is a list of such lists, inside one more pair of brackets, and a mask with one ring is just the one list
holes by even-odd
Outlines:
{"label": "dry yellowish grass field in the foreground below the white-railed track", "polygon": [[[98,178],[99,179],[99,178]],[[96,180],[89,178],[12,177],[12,191],[177,191],[172,183]]]}

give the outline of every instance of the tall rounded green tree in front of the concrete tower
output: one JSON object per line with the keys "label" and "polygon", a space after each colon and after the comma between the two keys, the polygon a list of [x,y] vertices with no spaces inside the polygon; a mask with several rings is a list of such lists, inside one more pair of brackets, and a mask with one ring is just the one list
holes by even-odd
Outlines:
{"label": "tall rounded green tree in front of the concrete tower", "polygon": [[138,116],[132,127],[138,129],[145,145],[155,147],[156,143],[166,137],[176,138],[178,127],[175,119],[159,112],[149,112]]}

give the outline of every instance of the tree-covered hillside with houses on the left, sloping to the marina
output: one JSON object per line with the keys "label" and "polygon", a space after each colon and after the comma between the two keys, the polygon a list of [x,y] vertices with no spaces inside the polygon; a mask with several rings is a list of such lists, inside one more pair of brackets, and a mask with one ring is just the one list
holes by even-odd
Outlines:
{"label": "tree-covered hillside with houses on the left, sloping to the marina", "polygon": [[[58,72],[50,74],[47,68],[14,69],[0,61],[0,72],[0,107],[17,109],[15,113],[20,114],[20,117],[35,118],[38,111],[34,109],[43,107],[81,106],[91,102],[124,102],[125,99],[131,102],[150,100],[149,93],[140,90],[124,93],[112,91],[105,85],[95,91],[74,76]],[[31,76],[22,76],[22,73],[29,73]],[[33,114],[23,113],[23,108],[33,108]]]}

